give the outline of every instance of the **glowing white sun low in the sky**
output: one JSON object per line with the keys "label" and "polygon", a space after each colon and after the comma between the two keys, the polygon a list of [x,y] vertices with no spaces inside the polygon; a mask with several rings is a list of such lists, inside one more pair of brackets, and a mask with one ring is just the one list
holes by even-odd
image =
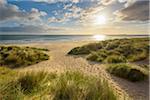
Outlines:
{"label": "glowing white sun low in the sky", "polygon": [[105,15],[97,15],[94,20],[94,23],[96,25],[106,24],[107,22],[107,18]]}

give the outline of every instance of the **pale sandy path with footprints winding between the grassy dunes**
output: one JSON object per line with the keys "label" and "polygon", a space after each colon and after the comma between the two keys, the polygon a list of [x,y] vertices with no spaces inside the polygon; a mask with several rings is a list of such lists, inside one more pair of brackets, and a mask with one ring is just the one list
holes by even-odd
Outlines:
{"label": "pale sandy path with footprints winding between the grassy dunes", "polygon": [[100,77],[104,77],[109,80],[111,86],[117,90],[117,94],[120,96],[121,100],[123,100],[124,97],[126,100],[129,100],[129,98],[127,98],[128,95],[123,95],[124,97],[122,96],[123,93],[128,93],[130,97],[134,98],[134,100],[148,100],[148,81],[132,83],[109,75],[102,67],[104,65],[90,63],[83,57],[66,55],[67,52],[73,47],[86,43],[87,42],[25,44],[27,46],[49,49],[50,52],[48,52],[48,54],[50,55],[50,60],[23,68],[21,70],[28,71],[44,69],[52,72],[78,70],[96,76],[101,75]]}

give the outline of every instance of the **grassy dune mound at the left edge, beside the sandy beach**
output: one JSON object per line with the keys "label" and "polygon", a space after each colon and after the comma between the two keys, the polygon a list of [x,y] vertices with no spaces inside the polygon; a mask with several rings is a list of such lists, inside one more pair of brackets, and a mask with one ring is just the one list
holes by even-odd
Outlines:
{"label": "grassy dune mound at the left edge, beside the sandy beach", "polygon": [[44,51],[47,51],[47,49],[0,46],[0,65],[18,68],[48,60],[49,56]]}

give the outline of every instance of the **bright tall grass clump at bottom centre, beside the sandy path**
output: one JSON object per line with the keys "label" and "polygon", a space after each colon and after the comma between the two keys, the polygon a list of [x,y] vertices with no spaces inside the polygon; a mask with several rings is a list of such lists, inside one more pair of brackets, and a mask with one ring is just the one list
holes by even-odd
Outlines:
{"label": "bright tall grass clump at bottom centre, beside the sandy path", "polygon": [[62,74],[53,84],[53,100],[116,100],[107,81],[79,72]]}

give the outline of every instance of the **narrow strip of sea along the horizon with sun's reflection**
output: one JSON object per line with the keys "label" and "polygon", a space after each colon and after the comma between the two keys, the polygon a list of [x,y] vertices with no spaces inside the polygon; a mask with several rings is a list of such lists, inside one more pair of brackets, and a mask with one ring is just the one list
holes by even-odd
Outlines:
{"label": "narrow strip of sea along the horizon with sun's reflection", "polygon": [[0,44],[65,41],[102,41],[121,38],[142,38],[148,35],[0,35]]}

